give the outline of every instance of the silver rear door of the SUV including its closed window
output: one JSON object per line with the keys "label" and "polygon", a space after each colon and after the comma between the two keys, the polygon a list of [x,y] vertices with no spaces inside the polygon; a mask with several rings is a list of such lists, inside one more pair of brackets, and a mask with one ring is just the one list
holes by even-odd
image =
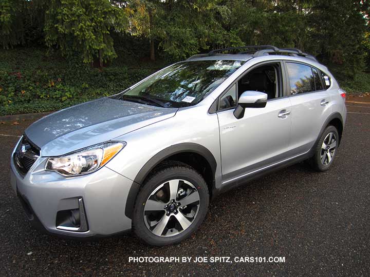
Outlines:
{"label": "silver rear door of the SUV including its closed window", "polygon": [[290,86],[292,155],[311,149],[331,113],[330,95],[319,70],[308,64],[285,62]]}

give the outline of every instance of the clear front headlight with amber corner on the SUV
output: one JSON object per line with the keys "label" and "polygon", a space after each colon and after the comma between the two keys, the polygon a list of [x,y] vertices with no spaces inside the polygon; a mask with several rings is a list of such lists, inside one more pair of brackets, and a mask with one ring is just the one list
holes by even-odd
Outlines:
{"label": "clear front headlight with amber corner on the SUV", "polygon": [[57,171],[64,176],[91,173],[104,166],[125,146],[125,142],[107,142],[65,156],[49,157],[45,169]]}

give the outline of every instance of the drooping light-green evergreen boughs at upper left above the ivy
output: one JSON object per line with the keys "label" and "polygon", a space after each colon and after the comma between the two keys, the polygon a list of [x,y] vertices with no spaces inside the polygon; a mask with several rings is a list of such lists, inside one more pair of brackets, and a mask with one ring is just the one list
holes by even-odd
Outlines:
{"label": "drooping light-green evergreen boughs at upper left above the ivy", "polygon": [[103,66],[117,56],[110,33],[126,27],[124,9],[109,0],[52,0],[46,11],[45,41],[64,55],[80,53],[85,63],[98,58]]}

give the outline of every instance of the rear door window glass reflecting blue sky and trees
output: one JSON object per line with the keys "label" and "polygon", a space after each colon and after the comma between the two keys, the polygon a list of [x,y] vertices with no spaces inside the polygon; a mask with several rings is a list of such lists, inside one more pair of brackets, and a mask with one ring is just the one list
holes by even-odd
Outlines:
{"label": "rear door window glass reflecting blue sky and trees", "polygon": [[304,92],[315,91],[315,80],[310,66],[287,63],[290,94],[295,95]]}

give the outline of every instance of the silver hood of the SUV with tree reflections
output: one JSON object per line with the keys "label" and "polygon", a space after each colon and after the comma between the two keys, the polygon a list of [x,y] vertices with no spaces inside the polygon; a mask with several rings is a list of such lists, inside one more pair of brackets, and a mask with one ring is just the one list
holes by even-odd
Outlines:
{"label": "silver hood of the SUV with tree reflections", "polygon": [[175,115],[177,108],[100,98],[49,114],[25,134],[42,156],[63,155],[99,144]]}

